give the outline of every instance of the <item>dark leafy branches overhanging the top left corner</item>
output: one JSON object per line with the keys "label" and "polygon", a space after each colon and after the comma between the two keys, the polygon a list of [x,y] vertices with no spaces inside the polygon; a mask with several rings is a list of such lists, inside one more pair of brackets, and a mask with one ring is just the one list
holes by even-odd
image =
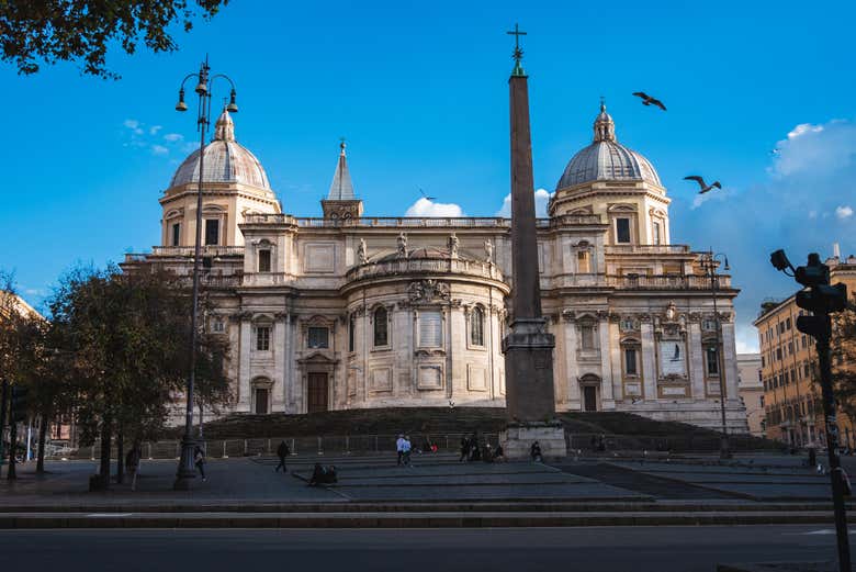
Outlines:
{"label": "dark leafy branches overhanging the top left corner", "polygon": [[0,0],[0,57],[18,72],[35,74],[40,63],[80,61],[81,71],[101,78],[120,76],[106,67],[108,47],[116,43],[134,54],[142,42],[155,53],[174,52],[170,26],[185,32],[193,19],[210,20],[228,0]]}

